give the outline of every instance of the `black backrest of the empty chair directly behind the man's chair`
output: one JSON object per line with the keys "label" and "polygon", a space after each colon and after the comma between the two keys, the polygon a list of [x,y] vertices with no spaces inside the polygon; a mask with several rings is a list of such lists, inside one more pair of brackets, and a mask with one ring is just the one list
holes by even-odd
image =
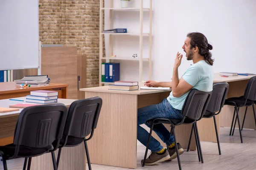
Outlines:
{"label": "black backrest of the empty chair directly behind the man's chair", "polygon": [[227,97],[229,84],[227,82],[213,83],[212,96],[207,107],[207,111],[214,113],[221,111]]}

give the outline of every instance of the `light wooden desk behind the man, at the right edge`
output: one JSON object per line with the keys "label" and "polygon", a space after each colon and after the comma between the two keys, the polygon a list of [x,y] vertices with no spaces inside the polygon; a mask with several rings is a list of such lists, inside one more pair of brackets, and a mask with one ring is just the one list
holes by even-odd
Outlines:
{"label": "light wooden desk behind the man, at the right edge", "polygon": [[[256,76],[256,75],[249,75],[249,76],[238,75],[238,76],[230,76],[230,77],[221,77],[219,73],[215,73],[213,82],[228,82],[229,91],[227,93],[227,98],[239,97],[244,95],[244,90],[246,88],[246,85],[249,79],[253,76]],[[239,109],[239,118],[240,118],[241,125],[244,119],[244,111],[245,111],[245,107],[242,107]],[[233,114],[234,114],[234,107],[224,105],[224,107],[221,109],[221,113],[215,116],[218,131],[219,131],[219,127],[231,126]],[[238,127],[238,123],[236,123],[236,127]],[[244,128],[256,129],[252,107],[248,107],[247,109]],[[201,119],[200,121],[198,121],[198,132],[199,132],[201,141],[217,142],[213,118]]]}

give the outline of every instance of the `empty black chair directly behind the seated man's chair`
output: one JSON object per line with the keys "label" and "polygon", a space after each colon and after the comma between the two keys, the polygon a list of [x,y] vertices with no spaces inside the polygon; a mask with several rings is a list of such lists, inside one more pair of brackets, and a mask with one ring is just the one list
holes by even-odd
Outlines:
{"label": "empty black chair directly behind the seated man's chair", "polygon": [[[219,142],[219,138],[218,138],[218,130],[217,130],[217,125],[216,125],[215,115],[218,115],[221,112],[221,109],[222,109],[225,99],[227,97],[229,84],[227,82],[213,83],[212,88],[213,88],[212,96],[211,96],[209,105],[206,109],[206,112],[205,112],[203,118],[212,118],[213,117],[215,132],[216,132],[216,137],[217,137],[217,143],[218,143],[218,150],[219,150],[219,154],[221,155],[221,147],[220,147],[220,142]],[[193,133],[193,128],[191,129],[191,134],[190,134],[190,138],[189,138],[189,145],[188,145],[187,151],[189,151],[192,133]]]}

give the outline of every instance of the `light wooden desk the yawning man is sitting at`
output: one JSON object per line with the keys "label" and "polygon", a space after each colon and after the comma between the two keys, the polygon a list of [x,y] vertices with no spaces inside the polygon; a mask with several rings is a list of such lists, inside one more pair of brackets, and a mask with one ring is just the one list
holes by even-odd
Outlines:
{"label": "light wooden desk the yawning man is sitting at", "polygon": [[[137,109],[160,103],[169,96],[170,91],[118,91],[108,90],[108,86],[80,90],[85,91],[85,98],[99,96],[103,100],[97,128],[93,138],[87,142],[91,163],[135,169],[137,167]],[[170,125],[166,127],[170,130]],[[192,125],[180,125],[175,128],[177,141],[184,148],[188,145],[191,127]],[[154,132],[152,134],[160,141]],[[195,147],[193,136],[191,149],[195,150]]]}

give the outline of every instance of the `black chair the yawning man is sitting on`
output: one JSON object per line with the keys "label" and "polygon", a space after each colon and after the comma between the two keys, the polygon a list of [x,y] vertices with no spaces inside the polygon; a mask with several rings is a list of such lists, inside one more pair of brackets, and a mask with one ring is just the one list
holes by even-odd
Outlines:
{"label": "black chair the yawning man is sitting on", "polygon": [[[182,120],[151,119],[150,121],[148,121],[148,124],[151,125],[151,128],[150,128],[150,132],[149,132],[149,136],[148,136],[148,144],[146,147],[145,156],[144,156],[144,160],[143,160],[143,167],[145,166],[145,159],[146,159],[146,156],[148,153],[148,145],[150,142],[153,127],[154,127],[154,125],[160,124],[160,123],[171,125],[171,127],[172,127],[171,133],[175,140],[176,153],[178,153],[178,147],[177,147],[177,141],[176,141],[176,135],[175,135],[175,126],[182,125],[182,124],[193,124],[193,127],[195,128],[195,132],[196,132],[196,144],[197,144],[197,148],[198,148],[198,158],[200,161],[200,156],[201,156],[202,163],[204,163],[196,121],[200,120],[203,117],[203,115],[206,111],[206,108],[208,106],[208,103],[210,101],[211,95],[212,95],[212,91],[204,92],[204,91],[198,91],[197,89],[194,88],[189,91],[189,94],[186,97],[186,100],[184,102],[184,105],[183,105],[183,108],[181,111],[181,114],[183,115]],[[199,152],[200,152],[200,155],[199,155]],[[179,154],[177,154],[177,159],[178,159],[179,169],[181,170]]]}

